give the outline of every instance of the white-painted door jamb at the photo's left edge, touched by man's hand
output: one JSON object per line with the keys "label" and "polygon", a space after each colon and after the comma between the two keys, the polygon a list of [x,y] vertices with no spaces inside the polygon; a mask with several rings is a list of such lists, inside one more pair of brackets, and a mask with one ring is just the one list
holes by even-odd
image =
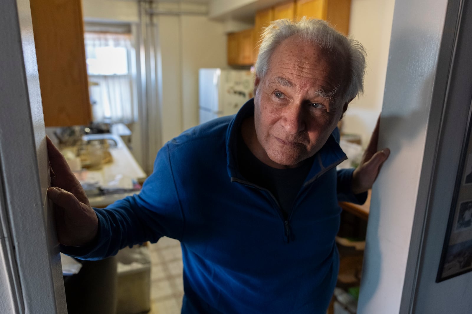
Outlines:
{"label": "white-painted door jamb at the photo's left edge, touched by man's hand", "polygon": [[0,12],[0,313],[67,313],[29,1]]}

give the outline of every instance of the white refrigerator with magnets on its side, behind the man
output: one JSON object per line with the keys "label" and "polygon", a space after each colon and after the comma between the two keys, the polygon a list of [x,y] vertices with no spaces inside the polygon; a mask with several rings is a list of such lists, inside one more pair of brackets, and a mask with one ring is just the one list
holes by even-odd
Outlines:
{"label": "white refrigerator with magnets on its side, behind the man", "polygon": [[237,113],[253,97],[254,77],[249,70],[200,69],[200,124]]}

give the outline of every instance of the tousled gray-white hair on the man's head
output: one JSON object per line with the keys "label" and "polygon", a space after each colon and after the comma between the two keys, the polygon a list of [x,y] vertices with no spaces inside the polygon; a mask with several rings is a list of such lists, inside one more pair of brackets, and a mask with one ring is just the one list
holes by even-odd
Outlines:
{"label": "tousled gray-white hair on the man's head", "polygon": [[343,103],[354,99],[364,91],[366,52],[361,43],[344,36],[323,20],[305,17],[297,22],[289,19],[277,20],[264,28],[256,62],[257,76],[262,78],[267,74],[272,53],[282,41],[293,35],[300,35],[303,40],[316,43],[329,53],[334,51],[346,57],[348,77],[343,82],[344,86],[337,89],[343,94],[337,95]]}

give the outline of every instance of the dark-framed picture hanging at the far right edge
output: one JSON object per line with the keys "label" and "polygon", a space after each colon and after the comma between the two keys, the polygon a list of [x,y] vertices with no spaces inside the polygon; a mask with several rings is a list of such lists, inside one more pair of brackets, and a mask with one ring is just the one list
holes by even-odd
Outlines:
{"label": "dark-framed picture hanging at the far right edge", "polygon": [[449,212],[436,282],[472,271],[472,141],[471,113]]}

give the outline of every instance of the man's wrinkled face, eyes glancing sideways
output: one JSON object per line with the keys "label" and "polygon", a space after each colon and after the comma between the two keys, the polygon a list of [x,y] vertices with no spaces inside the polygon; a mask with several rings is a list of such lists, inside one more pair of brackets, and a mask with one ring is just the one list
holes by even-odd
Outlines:
{"label": "man's wrinkled face, eyes glancing sideways", "polygon": [[336,128],[347,105],[334,95],[344,69],[339,54],[337,61],[340,66],[333,66],[320,48],[292,36],[272,54],[267,74],[256,77],[256,135],[277,168],[313,156]]}

